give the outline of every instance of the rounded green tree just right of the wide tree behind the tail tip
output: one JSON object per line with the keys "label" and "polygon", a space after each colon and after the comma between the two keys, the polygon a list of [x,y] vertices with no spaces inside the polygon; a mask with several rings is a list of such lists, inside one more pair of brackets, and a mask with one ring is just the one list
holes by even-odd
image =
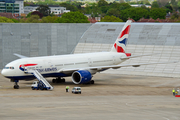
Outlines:
{"label": "rounded green tree just right of the wide tree behind the tail tip", "polygon": [[166,10],[163,8],[154,8],[150,11],[150,17],[153,19],[165,19],[166,16]]}

